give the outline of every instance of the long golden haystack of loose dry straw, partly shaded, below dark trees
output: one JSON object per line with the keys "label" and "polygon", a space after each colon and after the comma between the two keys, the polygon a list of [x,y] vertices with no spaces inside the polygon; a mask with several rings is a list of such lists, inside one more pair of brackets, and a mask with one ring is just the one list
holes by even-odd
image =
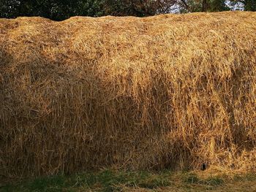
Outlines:
{"label": "long golden haystack of loose dry straw, partly shaded, below dark trees", "polygon": [[256,13],[0,19],[1,177],[255,161]]}

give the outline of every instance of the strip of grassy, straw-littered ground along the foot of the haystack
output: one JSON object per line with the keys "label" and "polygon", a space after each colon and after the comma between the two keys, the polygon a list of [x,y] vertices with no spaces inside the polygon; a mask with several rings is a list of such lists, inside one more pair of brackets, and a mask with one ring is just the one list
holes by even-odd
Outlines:
{"label": "strip of grassy, straw-littered ground along the foot of the haystack", "polygon": [[0,191],[256,191],[256,174],[219,172],[132,172],[103,169],[71,176],[0,183]]}

